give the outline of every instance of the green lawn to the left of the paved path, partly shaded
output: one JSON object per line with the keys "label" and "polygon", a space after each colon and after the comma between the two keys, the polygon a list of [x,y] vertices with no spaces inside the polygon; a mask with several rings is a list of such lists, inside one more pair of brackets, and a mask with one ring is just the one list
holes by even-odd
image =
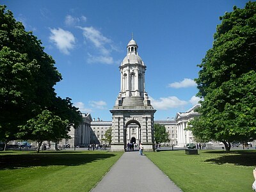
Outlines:
{"label": "green lawn to the left of the paved path, partly shaded", "polygon": [[0,152],[0,191],[90,191],[122,152]]}

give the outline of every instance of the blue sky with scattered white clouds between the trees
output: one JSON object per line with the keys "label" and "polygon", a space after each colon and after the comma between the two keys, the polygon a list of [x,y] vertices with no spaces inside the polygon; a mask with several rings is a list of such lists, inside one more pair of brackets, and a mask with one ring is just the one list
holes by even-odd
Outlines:
{"label": "blue sky with scattered white clouds between the trees", "polygon": [[175,117],[198,102],[193,81],[212,47],[219,17],[247,1],[2,0],[42,40],[63,80],[58,96],[93,118],[111,120],[120,92],[120,62],[133,33],[147,70],[145,88],[155,120]]}

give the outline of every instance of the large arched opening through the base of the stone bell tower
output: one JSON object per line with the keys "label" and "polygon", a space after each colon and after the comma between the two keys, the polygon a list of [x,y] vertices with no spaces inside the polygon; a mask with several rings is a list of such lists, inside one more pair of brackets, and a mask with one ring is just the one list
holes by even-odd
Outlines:
{"label": "large arched opening through the base of the stone bell tower", "polygon": [[[139,143],[141,141],[141,125],[136,120],[130,120],[125,124],[124,134],[124,149],[127,150],[138,150]],[[128,143],[131,143],[132,148],[128,147]]]}

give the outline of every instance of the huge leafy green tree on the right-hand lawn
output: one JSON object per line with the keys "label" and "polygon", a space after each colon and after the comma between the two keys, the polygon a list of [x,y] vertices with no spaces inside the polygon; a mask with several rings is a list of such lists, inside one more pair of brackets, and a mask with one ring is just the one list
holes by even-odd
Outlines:
{"label": "huge leafy green tree on the right-hand lawn", "polygon": [[200,116],[190,122],[196,138],[232,141],[256,138],[256,2],[225,13],[195,79]]}

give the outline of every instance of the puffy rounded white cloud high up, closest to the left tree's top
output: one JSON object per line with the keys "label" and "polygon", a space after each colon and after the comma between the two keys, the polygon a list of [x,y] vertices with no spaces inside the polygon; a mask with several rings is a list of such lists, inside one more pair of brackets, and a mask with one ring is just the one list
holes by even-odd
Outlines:
{"label": "puffy rounded white cloud high up, closest to the left tree's top", "polygon": [[71,49],[74,49],[76,39],[70,31],[65,31],[61,28],[50,29],[51,36],[49,37],[52,42],[60,49],[64,54],[69,54]]}

